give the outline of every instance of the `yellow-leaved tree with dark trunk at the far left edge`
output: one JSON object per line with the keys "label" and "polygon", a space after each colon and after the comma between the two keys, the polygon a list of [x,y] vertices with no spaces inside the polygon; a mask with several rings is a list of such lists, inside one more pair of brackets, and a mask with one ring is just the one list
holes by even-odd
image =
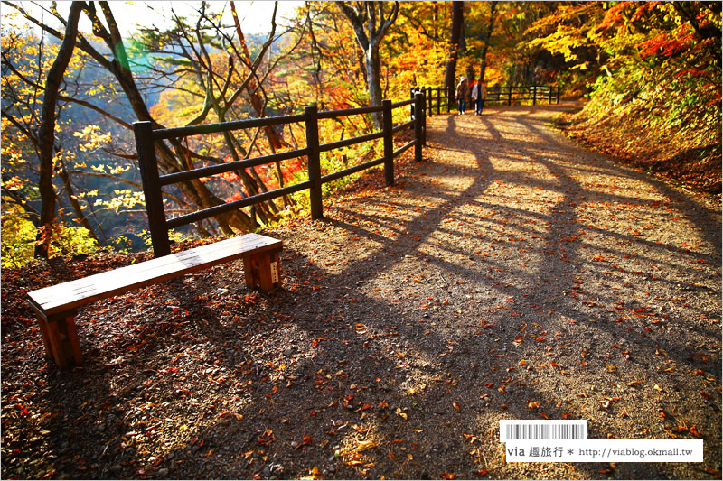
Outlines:
{"label": "yellow-leaved tree with dark trunk at the far left edge", "polygon": [[[31,219],[38,227],[33,251],[39,257],[47,258],[60,238],[71,238],[68,234],[73,229],[79,241],[83,236],[98,240],[75,195],[68,165],[68,143],[73,143],[68,142],[69,129],[62,122],[68,105],[66,90],[82,65],[73,55],[81,10],[82,3],[70,5],[60,44],[38,42],[33,33],[23,32],[23,25],[15,23],[16,16],[5,15],[9,24],[3,27],[2,52],[3,224],[21,231],[23,219]],[[60,187],[54,182],[56,174],[61,178]],[[36,187],[28,188],[33,183]],[[65,219],[65,215],[57,190],[67,195],[82,227],[65,222],[61,227],[58,217]],[[40,198],[37,209],[33,207],[36,193]],[[22,243],[22,239],[17,244],[10,242],[8,248],[23,250]]]}

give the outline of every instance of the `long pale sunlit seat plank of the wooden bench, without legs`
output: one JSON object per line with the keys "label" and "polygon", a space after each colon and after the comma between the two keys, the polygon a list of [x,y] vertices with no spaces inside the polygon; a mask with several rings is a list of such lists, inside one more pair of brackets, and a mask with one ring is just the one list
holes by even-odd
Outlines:
{"label": "long pale sunlit seat plank of the wooden bench, without legs", "polygon": [[28,293],[28,297],[33,308],[47,319],[53,314],[74,310],[89,302],[230,262],[244,255],[277,252],[281,250],[281,244],[280,240],[258,234],[232,237],[181,253],[32,291]]}

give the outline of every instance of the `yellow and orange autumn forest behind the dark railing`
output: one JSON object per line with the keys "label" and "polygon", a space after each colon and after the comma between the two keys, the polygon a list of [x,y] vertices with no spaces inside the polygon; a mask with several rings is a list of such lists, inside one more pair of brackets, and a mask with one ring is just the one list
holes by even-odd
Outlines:
{"label": "yellow and orange autumn forest behind the dark railing", "polygon": [[[563,98],[587,98],[588,119],[641,119],[651,138],[700,153],[690,162],[719,162],[718,2],[305,2],[284,19],[276,4],[243,5],[267,11],[265,33],[244,32],[240,2],[192,3],[190,12],[171,4],[162,23],[148,24],[139,3],[3,4],[3,266],[147,245],[138,120],[173,127],[379,105],[408,98],[410,88],[484,77],[489,86],[550,85]],[[119,9],[137,10],[136,29],[121,30]],[[330,142],[375,125],[352,116],[320,124],[320,136]],[[302,125],[286,125],[169,141],[156,153],[171,173],[304,139]],[[339,170],[379,150],[324,153],[322,166]],[[164,191],[164,203],[179,215],[305,179],[299,159],[182,182]],[[247,232],[307,204],[286,196],[174,236]]]}

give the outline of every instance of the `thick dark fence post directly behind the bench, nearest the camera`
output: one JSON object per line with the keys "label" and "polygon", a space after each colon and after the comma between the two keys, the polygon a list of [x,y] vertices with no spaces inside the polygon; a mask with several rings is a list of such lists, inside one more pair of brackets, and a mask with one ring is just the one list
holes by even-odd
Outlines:
{"label": "thick dark fence post directly behind the bench, nearest the camera", "polygon": [[151,231],[153,254],[154,257],[163,257],[171,254],[171,243],[168,240],[168,228],[165,227],[164,199],[158,175],[158,161],[155,158],[153,125],[147,121],[135,122],[133,132],[136,134],[138,165],[143,180],[143,194],[146,197],[148,230]]}

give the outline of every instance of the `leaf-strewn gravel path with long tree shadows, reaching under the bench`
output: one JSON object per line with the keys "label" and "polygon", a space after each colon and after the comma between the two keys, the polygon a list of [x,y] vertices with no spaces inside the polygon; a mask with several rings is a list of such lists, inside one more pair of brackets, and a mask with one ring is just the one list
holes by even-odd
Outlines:
{"label": "leaf-strewn gravel path with long tree shadows, reaching under the bench", "polygon": [[[720,212],[577,149],[546,125],[564,108],[430,117],[395,187],[269,231],[284,290],[222,266],[82,312],[88,365],[28,401],[63,410],[40,425],[56,458],[4,477],[718,477]],[[5,339],[4,412],[8,356],[32,372],[42,348]],[[546,417],[701,437],[705,462],[505,463],[499,421]]]}

